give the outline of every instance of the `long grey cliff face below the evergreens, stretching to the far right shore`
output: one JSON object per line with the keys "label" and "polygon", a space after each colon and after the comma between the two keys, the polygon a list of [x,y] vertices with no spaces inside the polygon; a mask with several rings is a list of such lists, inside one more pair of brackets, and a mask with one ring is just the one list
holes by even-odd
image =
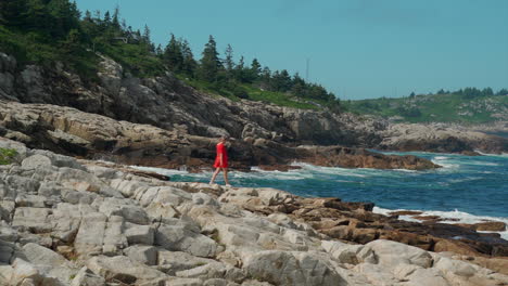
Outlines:
{"label": "long grey cliff face below the evergreens, stretching to the far right shore", "polygon": [[0,53],[0,99],[71,106],[116,120],[147,123],[199,136],[230,134],[247,143],[342,145],[394,151],[508,151],[508,140],[443,128],[439,125],[390,125],[388,121],[281,107],[242,100],[232,102],[195,91],[170,73],[139,79],[110,58],[101,62],[99,82],[84,82],[54,68],[17,67]]}

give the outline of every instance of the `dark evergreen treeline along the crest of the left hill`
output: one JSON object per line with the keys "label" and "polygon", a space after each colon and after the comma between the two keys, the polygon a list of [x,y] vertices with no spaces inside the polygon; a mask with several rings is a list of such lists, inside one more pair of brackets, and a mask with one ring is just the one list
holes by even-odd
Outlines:
{"label": "dark evergreen treeline along the crest of the left hill", "polygon": [[[224,54],[219,53],[213,36],[200,58],[194,57],[187,40],[174,35],[166,47],[155,47],[150,28],[145,26],[140,31],[127,26],[125,20],[119,18],[118,6],[113,13],[107,11],[103,15],[89,11],[81,14],[76,3],[68,0],[1,0],[0,24],[31,35],[36,41],[58,47],[63,57],[59,60],[67,64],[73,63],[73,57],[91,58],[94,52],[100,52],[120,62],[137,76],[154,76],[168,68],[183,78],[204,82],[218,93],[238,98],[249,98],[249,88],[255,88],[335,107],[339,104],[333,93],[320,84],[305,81],[299,74],[290,75],[285,69],[272,72],[262,66],[257,58],[245,63],[241,56],[236,62],[229,44]],[[38,53],[37,50],[31,52]]]}

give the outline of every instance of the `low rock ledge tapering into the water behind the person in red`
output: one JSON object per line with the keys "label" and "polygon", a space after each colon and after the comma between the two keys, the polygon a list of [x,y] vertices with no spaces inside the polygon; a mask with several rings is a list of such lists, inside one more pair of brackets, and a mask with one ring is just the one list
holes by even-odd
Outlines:
{"label": "low rock ledge tapering into the water behind the person in red", "polygon": [[[75,108],[0,101],[0,127],[4,136],[30,147],[61,154],[102,158],[191,171],[209,168],[215,158],[215,139],[189,135],[180,128],[117,121]],[[269,139],[237,140],[229,147],[231,167],[247,171],[252,166],[289,168],[293,161],[328,167],[430,169],[429,160],[414,156],[386,156],[363,148],[297,146]]]}

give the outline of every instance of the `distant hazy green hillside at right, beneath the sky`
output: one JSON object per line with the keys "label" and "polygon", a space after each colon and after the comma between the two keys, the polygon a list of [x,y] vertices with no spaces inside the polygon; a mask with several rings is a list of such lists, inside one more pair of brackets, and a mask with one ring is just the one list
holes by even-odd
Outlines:
{"label": "distant hazy green hillside at right, beneath the sky", "polygon": [[[486,90],[486,92],[484,92]],[[474,88],[402,99],[344,101],[350,112],[406,122],[486,123],[508,120],[508,91]]]}

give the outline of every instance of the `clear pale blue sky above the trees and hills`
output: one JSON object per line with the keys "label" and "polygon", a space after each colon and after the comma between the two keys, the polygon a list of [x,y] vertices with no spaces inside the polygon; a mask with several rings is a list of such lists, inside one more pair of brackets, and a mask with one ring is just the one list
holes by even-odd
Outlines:
{"label": "clear pale blue sky above the trees and hills", "polygon": [[440,89],[508,88],[508,0],[77,0],[113,11],[165,47],[173,32],[200,58],[224,55],[288,69],[342,100]]}

